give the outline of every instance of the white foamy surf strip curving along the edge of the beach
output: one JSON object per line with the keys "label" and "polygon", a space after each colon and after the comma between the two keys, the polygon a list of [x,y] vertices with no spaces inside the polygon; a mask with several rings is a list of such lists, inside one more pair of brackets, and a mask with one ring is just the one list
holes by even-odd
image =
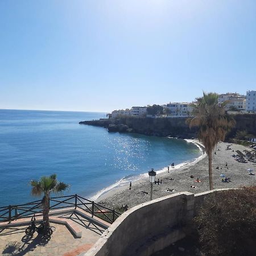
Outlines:
{"label": "white foamy surf strip curving along the edge of the beach", "polygon": [[[183,167],[189,167],[193,164],[196,164],[206,156],[203,144],[201,144],[197,139],[183,139],[183,140],[186,141],[187,143],[195,144],[199,148],[201,155],[196,159],[192,159],[191,161],[177,164],[174,168],[170,167],[170,171],[178,170],[179,168],[183,168]],[[167,167],[163,167],[162,169],[156,171],[156,175],[164,174],[166,172],[167,172]],[[89,200],[95,201],[96,203],[98,203],[101,200],[108,198],[109,196],[113,196],[115,193],[119,193],[127,189],[127,187],[129,187],[130,181],[134,185],[134,184],[138,184],[139,181],[142,181],[142,180],[148,180],[147,172],[144,174],[134,176],[129,180],[122,178],[121,180],[118,180],[116,183],[110,185],[109,187],[106,187],[101,191],[98,191],[96,195],[91,196]]]}

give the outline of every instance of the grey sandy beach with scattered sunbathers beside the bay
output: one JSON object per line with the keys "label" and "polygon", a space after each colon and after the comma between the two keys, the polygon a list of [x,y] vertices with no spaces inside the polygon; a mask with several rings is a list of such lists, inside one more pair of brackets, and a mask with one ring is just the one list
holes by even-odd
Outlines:
{"label": "grey sandy beach with scattered sunbathers beside the bay", "polygon": [[[196,140],[194,142],[196,142]],[[256,175],[249,175],[247,169],[251,168],[254,170],[253,173],[255,173],[256,163],[249,161],[247,163],[239,163],[232,156],[233,154],[237,154],[236,150],[243,152],[243,150],[251,150],[251,148],[238,144],[231,144],[231,150],[226,150],[228,145],[230,145],[230,143],[218,143],[216,154],[214,154],[213,151],[212,170],[214,189],[239,188],[245,185],[255,185]],[[228,165],[227,167],[226,164]],[[216,167],[219,167],[219,169],[216,169]],[[221,174],[230,178],[230,182],[221,182]],[[191,175],[194,177],[191,178]],[[199,178],[201,182],[196,182],[195,180],[197,178]],[[167,171],[167,167],[164,168],[164,172],[156,174],[156,180],[158,179],[162,179],[162,184],[153,185],[153,199],[183,191],[192,193],[208,191],[209,178],[207,154],[200,156],[195,162],[185,166],[175,168],[171,168],[170,166],[170,172]],[[195,186],[195,188],[191,188],[191,186]],[[174,189],[174,191],[167,192],[168,188]],[[110,208],[119,208],[121,205],[126,204],[131,208],[149,200],[150,182],[147,175],[143,179],[135,181],[131,185],[131,189],[129,189],[129,185],[115,188],[99,197],[96,201],[97,203]]]}

